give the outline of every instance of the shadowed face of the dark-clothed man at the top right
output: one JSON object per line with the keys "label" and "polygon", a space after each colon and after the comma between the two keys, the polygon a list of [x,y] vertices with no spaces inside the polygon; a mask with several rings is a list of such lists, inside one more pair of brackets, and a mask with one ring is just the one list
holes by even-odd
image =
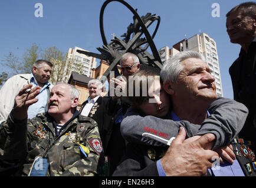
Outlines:
{"label": "shadowed face of the dark-clothed man at the top right", "polygon": [[226,27],[230,42],[240,45],[251,42],[250,40],[254,38],[255,22],[255,19],[245,16],[242,11],[236,11],[229,15]]}

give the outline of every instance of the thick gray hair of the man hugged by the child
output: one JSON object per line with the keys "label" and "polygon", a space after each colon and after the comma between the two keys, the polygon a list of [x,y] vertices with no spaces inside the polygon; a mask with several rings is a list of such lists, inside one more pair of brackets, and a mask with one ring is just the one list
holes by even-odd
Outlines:
{"label": "thick gray hair of the man hugged by the child", "polygon": [[183,51],[179,52],[172,58],[168,59],[163,66],[161,72],[160,72],[160,77],[163,80],[163,83],[166,81],[169,82],[175,82],[179,73],[184,69],[182,61],[188,58],[198,58],[202,59],[202,61],[205,62],[204,56],[195,51]]}

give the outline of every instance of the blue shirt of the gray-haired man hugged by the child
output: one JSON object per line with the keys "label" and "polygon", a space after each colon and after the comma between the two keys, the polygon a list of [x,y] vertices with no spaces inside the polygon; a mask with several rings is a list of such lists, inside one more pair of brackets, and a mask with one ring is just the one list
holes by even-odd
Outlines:
{"label": "blue shirt of the gray-haired man hugged by the child", "polygon": [[[209,116],[209,112],[207,111],[207,115]],[[172,111],[171,112],[172,120],[180,121],[179,117]],[[156,166],[159,176],[166,176],[165,170],[163,170],[162,164],[160,162],[161,159],[157,160]],[[234,163],[228,163],[224,161],[224,164],[217,164],[209,170],[209,173],[214,176],[244,176],[244,172],[242,172],[241,166],[239,165],[237,159],[234,160]],[[214,174],[212,174],[214,173]]]}

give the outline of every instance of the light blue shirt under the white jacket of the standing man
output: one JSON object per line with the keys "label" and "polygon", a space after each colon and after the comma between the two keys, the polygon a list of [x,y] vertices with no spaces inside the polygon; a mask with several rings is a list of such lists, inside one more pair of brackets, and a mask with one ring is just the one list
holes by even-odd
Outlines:
{"label": "light blue shirt under the white jacket of the standing man", "polygon": [[[30,83],[32,83],[32,88],[35,86],[38,86],[37,82],[35,82],[35,77],[33,74],[31,74]],[[47,88],[49,88],[51,83],[46,82],[44,87],[41,88],[40,93],[36,98],[38,98],[38,101],[34,103],[33,105],[29,106],[28,108],[28,119],[31,119],[35,117],[38,113],[44,113],[45,112],[45,106],[48,102],[48,91]]]}

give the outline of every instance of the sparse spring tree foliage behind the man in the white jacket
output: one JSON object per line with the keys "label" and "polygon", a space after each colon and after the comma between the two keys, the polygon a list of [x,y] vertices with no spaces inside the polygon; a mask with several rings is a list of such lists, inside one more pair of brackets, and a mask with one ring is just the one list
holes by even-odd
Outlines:
{"label": "sparse spring tree foliage behind the man in the white jacket", "polygon": [[[72,70],[76,70],[76,72],[80,74],[83,73],[83,63],[73,56],[68,57],[67,53],[65,54],[64,52],[61,52],[56,46],[50,46],[41,50],[37,44],[33,43],[31,47],[26,49],[21,59],[22,60],[19,61],[19,58],[12,52],[9,52],[8,55],[4,56],[1,64],[8,69],[8,72],[5,72],[7,73],[8,78],[21,73],[31,73],[32,65],[38,59],[45,59],[52,62],[53,67],[50,79],[52,84],[67,82]],[[2,76],[5,75],[2,73]],[[2,85],[2,82],[0,82],[0,85]]]}

